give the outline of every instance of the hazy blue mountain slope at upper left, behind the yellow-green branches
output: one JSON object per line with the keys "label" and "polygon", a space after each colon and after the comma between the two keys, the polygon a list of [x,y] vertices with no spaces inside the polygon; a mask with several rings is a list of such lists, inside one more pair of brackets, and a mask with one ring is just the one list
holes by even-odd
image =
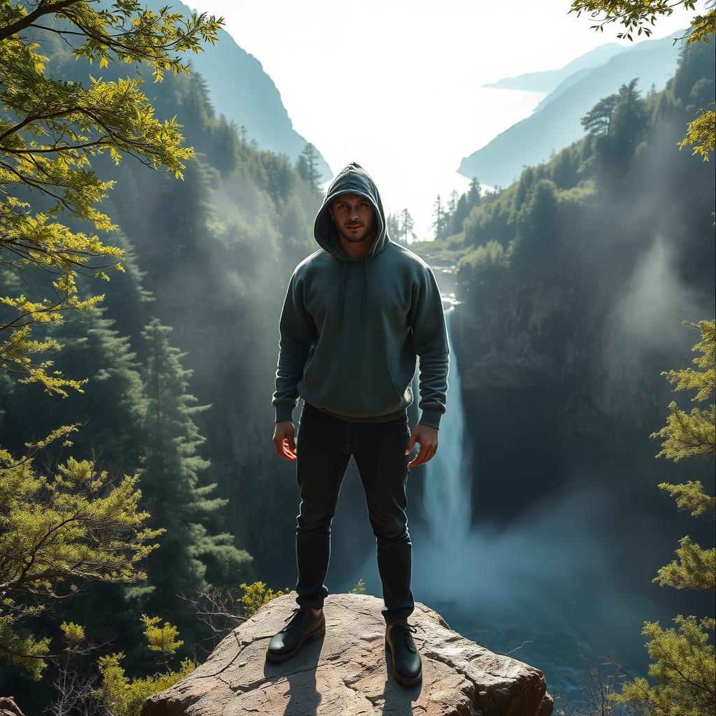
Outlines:
{"label": "hazy blue mountain slope at upper left, behind the yellow-green branches", "polygon": [[[163,6],[159,0],[147,0],[155,12]],[[190,16],[189,6],[177,2],[172,12]],[[215,13],[219,16],[221,13]],[[208,87],[216,115],[244,125],[248,140],[256,140],[261,149],[284,153],[295,163],[309,140],[294,130],[281,94],[274,81],[264,72],[261,62],[236,44],[226,30],[220,29],[216,44],[202,42],[203,52],[188,52],[185,58],[191,69],[199,72]],[[333,171],[316,147],[317,168],[322,181],[332,178]]]}

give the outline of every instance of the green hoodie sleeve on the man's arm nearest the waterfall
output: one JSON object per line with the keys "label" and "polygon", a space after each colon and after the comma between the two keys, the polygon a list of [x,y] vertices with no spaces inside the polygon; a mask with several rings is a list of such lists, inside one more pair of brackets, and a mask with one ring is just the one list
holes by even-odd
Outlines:
{"label": "green hoodie sleeve on the man's arm nearest the waterfall", "polygon": [[442,309],[440,289],[430,266],[421,273],[420,286],[411,311],[412,337],[420,357],[420,402],[418,423],[440,427],[448,394],[450,349],[448,328]]}

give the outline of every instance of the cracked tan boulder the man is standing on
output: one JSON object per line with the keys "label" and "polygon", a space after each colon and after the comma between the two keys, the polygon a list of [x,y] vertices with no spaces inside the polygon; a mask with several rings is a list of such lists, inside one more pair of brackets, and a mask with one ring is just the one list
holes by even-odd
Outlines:
{"label": "cracked tan boulder the man is standing on", "polygon": [[450,629],[417,602],[409,618],[422,656],[422,683],[406,687],[387,666],[382,601],[332,594],[326,635],[283,664],[266,662],[296,592],[273,599],[218,644],[211,657],[145,702],[142,716],[316,714],[358,716],[550,716],[553,700],[539,669],[490,652]]}

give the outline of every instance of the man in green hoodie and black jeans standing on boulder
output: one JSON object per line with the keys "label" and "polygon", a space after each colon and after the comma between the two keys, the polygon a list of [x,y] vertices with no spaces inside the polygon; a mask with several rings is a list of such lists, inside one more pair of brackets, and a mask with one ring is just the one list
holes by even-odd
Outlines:
{"label": "man in green hoodie and black jeans standing on boulder", "polygon": [[[411,467],[435,455],[448,391],[448,334],[430,266],[386,231],[377,187],[357,163],[330,185],[316,216],[319,251],[291,276],[281,313],[274,444],[296,461],[296,603],[266,658],[289,659],[326,631],[324,579],[340,485],[354,456],[377,541],[385,641],[398,681],[422,676],[407,617],[412,543],[405,489]],[[422,415],[410,432],[407,407],[420,356]],[[294,440],[293,411],[304,399]],[[417,456],[408,455],[420,444]],[[296,447],[297,443],[297,447]],[[410,462],[408,461],[410,460]]]}

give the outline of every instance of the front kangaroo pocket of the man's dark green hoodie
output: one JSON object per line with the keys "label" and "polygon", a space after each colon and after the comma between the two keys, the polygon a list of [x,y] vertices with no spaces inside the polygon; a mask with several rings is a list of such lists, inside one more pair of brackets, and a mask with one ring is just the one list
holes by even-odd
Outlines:
{"label": "front kangaroo pocket of the man's dark green hoodie", "polygon": [[403,407],[388,359],[319,349],[304,375],[306,400],[339,415],[384,415]]}

